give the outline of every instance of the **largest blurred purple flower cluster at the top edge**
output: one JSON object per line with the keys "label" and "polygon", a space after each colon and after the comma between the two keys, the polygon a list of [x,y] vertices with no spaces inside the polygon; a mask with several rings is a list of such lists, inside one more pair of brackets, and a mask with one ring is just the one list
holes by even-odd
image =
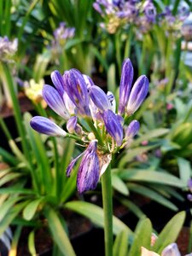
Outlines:
{"label": "largest blurred purple flower cluster at the top edge", "polygon": [[120,27],[130,24],[140,27],[143,32],[147,31],[156,17],[156,9],[151,0],[144,3],[134,0],[96,0],[93,7],[104,18],[102,27],[109,33],[115,33]]}

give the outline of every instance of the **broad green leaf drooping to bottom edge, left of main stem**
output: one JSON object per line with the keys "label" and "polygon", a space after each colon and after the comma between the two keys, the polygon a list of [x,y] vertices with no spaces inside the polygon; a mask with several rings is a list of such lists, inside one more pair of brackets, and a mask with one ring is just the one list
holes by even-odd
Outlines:
{"label": "broad green leaf drooping to bottom edge, left of main stem", "polygon": [[64,230],[61,220],[56,212],[50,207],[46,207],[44,214],[48,219],[49,229],[52,233],[52,237],[63,255],[75,256],[71,242],[69,241],[67,233]]}

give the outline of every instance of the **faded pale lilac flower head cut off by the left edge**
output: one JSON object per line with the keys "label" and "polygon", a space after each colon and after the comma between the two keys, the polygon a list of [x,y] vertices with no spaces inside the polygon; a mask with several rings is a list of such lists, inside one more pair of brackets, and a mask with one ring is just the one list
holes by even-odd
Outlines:
{"label": "faded pale lilac flower head cut off by the left edge", "polygon": [[11,62],[18,48],[18,39],[10,41],[8,37],[0,37],[0,61]]}

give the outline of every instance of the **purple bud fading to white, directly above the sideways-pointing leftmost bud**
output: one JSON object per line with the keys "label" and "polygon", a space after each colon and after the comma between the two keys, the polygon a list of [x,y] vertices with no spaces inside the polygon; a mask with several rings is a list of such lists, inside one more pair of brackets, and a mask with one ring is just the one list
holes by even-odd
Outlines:
{"label": "purple bud fading to white, directly above the sideways-pointing leftmost bud", "polygon": [[49,107],[52,108],[55,111],[55,113],[58,113],[64,119],[70,118],[61,95],[57,90],[55,90],[54,87],[45,84],[42,94],[44,97],[44,101],[47,102]]}

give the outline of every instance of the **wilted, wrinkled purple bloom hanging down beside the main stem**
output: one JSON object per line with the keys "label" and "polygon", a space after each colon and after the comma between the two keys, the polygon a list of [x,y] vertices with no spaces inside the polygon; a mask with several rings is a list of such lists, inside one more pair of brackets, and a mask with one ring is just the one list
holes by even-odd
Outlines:
{"label": "wilted, wrinkled purple bloom hanging down beside the main stem", "polygon": [[96,141],[90,142],[84,151],[78,172],[77,186],[80,194],[96,189],[99,181],[99,160],[96,154]]}

